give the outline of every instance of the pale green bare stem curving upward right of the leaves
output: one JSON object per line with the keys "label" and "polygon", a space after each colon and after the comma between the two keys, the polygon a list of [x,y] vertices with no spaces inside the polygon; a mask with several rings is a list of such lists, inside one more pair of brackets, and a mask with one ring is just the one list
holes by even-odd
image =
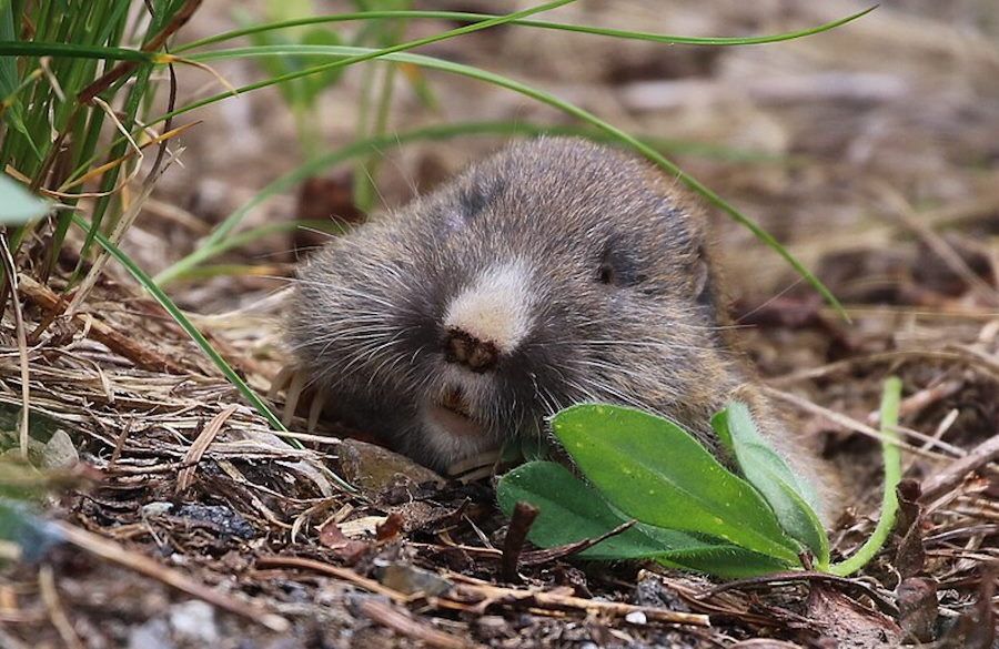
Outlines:
{"label": "pale green bare stem curving upward right of the leaves", "polygon": [[881,457],[885,462],[885,491],[881,497],[881,517],[874,531],[848,559],[829,567],[829,572],[840,577],[852,575],[870,561],[884,547],[895,526],[898,514],[898,483],[901,480],[901,452],[898,448],[898,408],[901,402],[901,379],[891,376],[885,381],[881,393]]}

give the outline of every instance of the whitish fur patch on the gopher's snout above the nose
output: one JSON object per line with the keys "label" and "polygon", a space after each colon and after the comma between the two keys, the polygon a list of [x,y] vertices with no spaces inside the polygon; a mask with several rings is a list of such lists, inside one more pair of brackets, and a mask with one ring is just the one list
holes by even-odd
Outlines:
{"label": "whitish fur patch on the gopher's snout above the nose", "polygon": [[444,327],[513,352],[531,329],[529,280],[522,261],[490,266],[447,306]]}

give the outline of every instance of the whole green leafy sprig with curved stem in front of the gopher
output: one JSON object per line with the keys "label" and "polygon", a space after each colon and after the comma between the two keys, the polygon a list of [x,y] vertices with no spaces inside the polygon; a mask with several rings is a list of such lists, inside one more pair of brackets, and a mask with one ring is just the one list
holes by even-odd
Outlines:
{"label": "whole green leafy sprig with curved stem in front of the gopher", "polygon": [[741,475],[674,422],[628,407],[584,404],[555,415],[552,432],[586,481],[559,464],[531,462],[501,478],[497,498],[507,515],[522,500],[541,509],[528,538],[542,547],[595,538],[637,521],[581,552],[585,559],[654,559],[719,577],[803,564],[846,575],[877,554],[895,518],[900,459],[891,429],[900,389],[891,378],[882,397],[881,519],[871,539],[840,564],[830,564],[813,487],[766,443],[739,402],[718,413],[713,426]]}

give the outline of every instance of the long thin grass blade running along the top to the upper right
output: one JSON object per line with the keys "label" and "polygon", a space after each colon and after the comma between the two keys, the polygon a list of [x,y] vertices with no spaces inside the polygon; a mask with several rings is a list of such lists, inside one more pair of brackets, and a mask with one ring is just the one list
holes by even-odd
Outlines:
{"label": "long thin grass blade running along the top to the upper right", "polygon": [[[512,20],[511,24],[516,24],[521,27],[529,27],[536,29],[547,29],[547,30],[559,30],[559,31],[571,31],[577,33],[585,33],[592,36],[602,36],[617,39],[628,39],[628,40],[639,40],[639,41],[652,41],[656,43],[665,43],[665,44],[683,44],[683,45],[715,45],[715,47],[727,47],[727,45],[759,45],[766,43],[776,43],[780,41],[789,41],[794,39],[805,38],[809,36],[814,36],[817,33],[821,33],[824,31],[829,31],[831,29],[836,29],[837,27],[844,26],[848,22],[852,22],[858,18],[866,16],[877,9],[877,6],[865,9],[864,11],[858,11],[857,13],[847,16],[846,18],[840,18],[838,20],[834,20],[831,22],[827,22],[825,24],[820,24],[817,27],[811,27],[808,29],[789,31],[785,33],[778,34],[769,34],[769,36],[758,36],[758,37],[684,37],[684,36],[672,36],[672,34],[662,34],[662,33],[653,33],[653,32],[644,32],[644,31],[630,31],[630,30],[622,30],[622,29],[607,29],[601,27],[591,27],[585,24],[568,24],[563,22],[551,22],[545,20]],[[176,52],[190,51],[196,48],[202,48],[204,45],[210,45],[213,43],[220,43],[233,39],[238,39],[244,36],[251,36],[261,32],[281,30],[281,29],[290,29],[295,27],[302,27],[307,24],[323,24],[323,23],[332,23],[332,22],[345,22],[345,21],[354,21],[354,20],[391,20],[391,19],[434,19],[434,20],[466,20],[466,21],[480,21],[480,20],[488,20],[491,18],[496,18],[494,14],[490,13],[470,13],[465,11],[364,11],[356,13],[337,13],[333,16],[317,16],[311,18],[301,18],[295,20],[284,20],[280,22],[270,22],[266,24],[258,24],[253,27],[248,27],[243,29],[236,29],[232,31],[228,31],[224,33],[215,34],[212,37],[203,38],[196,41],[192,41],[190,43],[184,43],[183,45],[175,49]]]}

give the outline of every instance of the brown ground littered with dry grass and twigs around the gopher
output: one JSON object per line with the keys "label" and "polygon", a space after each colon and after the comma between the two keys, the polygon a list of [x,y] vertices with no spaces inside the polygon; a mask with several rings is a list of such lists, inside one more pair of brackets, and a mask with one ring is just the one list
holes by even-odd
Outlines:
{"label": "brown ground littered with dry grass and twigs around the gopher", "polygon": [[[235,4],[255,7],[205,3],[181,40],[231,29]],[[736,36],[864,7],[594,0],[551,18]],[[451,27],[413,23],[407,34]],[[111,264],[82,311],[31,348],[32,412],[61,432],[52,439],[71,440],[40,453],[62,448],[83,464],[62,469],[63,488],[44,501],[65,542],[36,548],[0,574],[0,647],[999,647],[999,6],[887,2],[833,32],[758,47],[500,28],[421,51],[544,88],[666,141],[686,171],[817,272],[851,322],[750,233],[713,214],[745,352],[774,404],[842,476],[842,513],[830,530],[838,555],[874,527],[881,474],[872,416],[885,378],[904,379],[907,481],[889,546],[848,581],[784,576],[719,590],[662,567],[565,557],[522,564],[521,579],[504,580],[506,521],[487,483],[440,486],[335,436],[289,446]],[[245,61],[213,67],[234,84],[263,75]],[[398,75],[391,128],[571,123],[475,81],[433,72],[425,81],[431,105]],[[322,97],[321,150],[355,139],[362,83],[351,70]],[[182,101],[218,90],[210,74],[180,70]],[[302,162],[276,92],[182,122],[194,120],[202,123],[174,143],[176,161],[125,239],[150,273]],[[502,142],[470,136],[384,151],[381,209],[403,206]],[[324,172],[255,209],[244,227],[350,216],[352,173]],[[252,273],[168,287],[262,393],[287,358],[286,277],[314,243],[301,233],[263,239],[212,262]],[[33,331],[50,295],[22,291]],[[14,413],[21,367],[10,314],[0,343],[0,404]],[[295,417],[292,429],[305,428]],[[341,490],[327,467],[362,493]]]}

